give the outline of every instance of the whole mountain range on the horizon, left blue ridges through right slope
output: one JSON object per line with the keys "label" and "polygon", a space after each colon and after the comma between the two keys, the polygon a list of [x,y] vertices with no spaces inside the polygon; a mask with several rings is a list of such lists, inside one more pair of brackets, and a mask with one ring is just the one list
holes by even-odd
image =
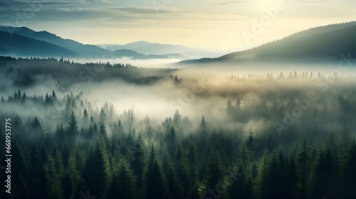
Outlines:
{"label": "whole mountain range on the horizon, left blue ridges through right slope", "polygon": [[[9,32],[11,30],[11,32]],[[340,59],[340,54],[356,54],[356,21],[320,26],[300,31],[278,41],[249,50],[224,53],[219,50],[189,48],[137,41],[125,45],[86,45],[47,31],[26,27],[0,26],[0,55],[22,57],[177,59],[179,63],[231,63],[258,60]],[[109,56],[108,56],[109,55]],[[214,58],[201,58],[214,57]],[[195,59],[194,59],[195,58]]]}

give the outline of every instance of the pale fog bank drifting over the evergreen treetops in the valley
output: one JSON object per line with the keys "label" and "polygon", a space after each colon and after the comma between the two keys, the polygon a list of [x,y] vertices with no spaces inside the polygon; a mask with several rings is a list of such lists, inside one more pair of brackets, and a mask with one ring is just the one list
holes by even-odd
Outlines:
{"label": "pale fog bank drifting over the evergreen treetops in the valley", "polygon": [[[18,90],[26,92],[27,97],[51,95],[55,91],[61,99],[55,109],[63,112],[66,96],[80,95],[75,98],[76,106],[73,107],[77,117],[82,117],[84,108],[89,115],[98,115],[104,104],[110,103],[115,110],[112,122],[132,109],[137,124],[150,117],[159,125],[179,111],[182,117],[190,119],[194,128],[199,126],[204,115],[211,129],[224,128],[244,136],[249,131],[281,135],[276,124],[286,117],[284,112],[290,112],[296,100],[303,101],[313,92],[318,101],[310,103],[308,109],[303,110],[304,115],[295,119],[290,128],[284,128],[284,134],[295,129],[328,131],[328,123],[333,119],[339,126],[345,120],[350,129],[355,129],[352,123],[355,116],[351,112],[355,111],[355,96],[352,95],[356,85],[355,69],[338,68],[337,63],[209,64],[184,65],[181,69],[169,69],[172,65],[150,69],[125,67],[125,64],[115,67],[105,62],[68,63],[66,60],[4,60],[4,63],[0,96],[5,100]],[[80,100],[84,104],[78,106]],[[233,107],[239,100],[239,107],[228,108],[229,100]],[[38,116],[48,129],[52,128],[48,131],[53,131],[58,123],[66,123],[60,116],[56,117],[58,120],[48,119],[51,113],[48,109],[52,108],[33,103],[31,100],[23,104],[9,103],[1,112],[17,114],[23,119]],[[345,109],[347,105],[343,103],[350,103],[352,110]],[[300,127],[314,112],[318,115],[315,124],[304,123],[305,126]]]}

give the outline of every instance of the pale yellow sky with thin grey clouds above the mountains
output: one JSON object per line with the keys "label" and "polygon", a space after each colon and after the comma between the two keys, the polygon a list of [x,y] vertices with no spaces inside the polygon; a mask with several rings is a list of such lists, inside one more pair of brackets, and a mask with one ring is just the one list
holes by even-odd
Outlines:
{"label": "pale yellow sky with thin grey clouds above the mountains", "polygon": [[355,0],[0,1],[0,25],[88,44],[135,41],[229,50],[356,21]]}

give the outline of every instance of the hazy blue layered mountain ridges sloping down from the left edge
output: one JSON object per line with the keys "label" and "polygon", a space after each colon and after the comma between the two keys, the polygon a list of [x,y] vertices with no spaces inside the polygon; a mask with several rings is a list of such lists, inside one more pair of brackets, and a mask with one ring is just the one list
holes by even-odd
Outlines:
{"label": "hazy blue layered mountain ridges sloping down from the left edge", "polygon": [[[11,32],[9,32],[9,30]],[[66,58],[131,58],[131,59],[190,59],[179,53],[146,55],[130,49],[105,50],[97,45],[87,45],[63,39],[47,31],[33,31],[26,27],[0,26],[0,55],[61,57]],[[132,43],[132,47],[147,45],[147,42]]]}

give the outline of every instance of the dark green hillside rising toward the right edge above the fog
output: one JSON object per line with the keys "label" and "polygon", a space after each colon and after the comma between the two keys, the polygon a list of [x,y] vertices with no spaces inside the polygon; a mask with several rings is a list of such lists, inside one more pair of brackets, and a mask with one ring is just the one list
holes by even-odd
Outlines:
{"label": "dark green hillside rising toward the right edge above the fog", "polygon": [[340,54],[356,55],[356,22],[310,28],[279,41],[250,50],[229,53],[219,58],[184,60],[181,63],[236,62],[241,60],[300,60],[308,58],[340,58]]}

